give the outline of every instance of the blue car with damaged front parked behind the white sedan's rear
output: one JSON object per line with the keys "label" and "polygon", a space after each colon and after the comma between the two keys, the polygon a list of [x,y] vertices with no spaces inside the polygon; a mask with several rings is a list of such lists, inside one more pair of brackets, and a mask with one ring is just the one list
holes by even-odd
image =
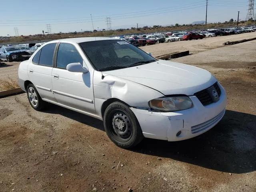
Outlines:
{"label": "blue car with damaged front parked behind the white sedan's rear", "polygon": [[14,60],[26,60],[30,54],[26,50],[21,50],[19,47],[3,46],[0,48],[0,59],[11,62]]}

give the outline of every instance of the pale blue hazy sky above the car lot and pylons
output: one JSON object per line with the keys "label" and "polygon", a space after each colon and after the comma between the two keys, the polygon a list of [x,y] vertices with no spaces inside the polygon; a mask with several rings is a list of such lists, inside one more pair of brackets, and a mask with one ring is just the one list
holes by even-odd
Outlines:
{"label": "pale blue hazy sky above the car lot and pylons", "polygon": [[[206,0],[12,0],[1,2],[0,36],[40,34],[50,24],[53,32],[106,29],[145,25],[189,24],[205,20]],[[6,8],[4,8],[6,7]],[[208,0],[208,22],[244,20],[247,0]]]}

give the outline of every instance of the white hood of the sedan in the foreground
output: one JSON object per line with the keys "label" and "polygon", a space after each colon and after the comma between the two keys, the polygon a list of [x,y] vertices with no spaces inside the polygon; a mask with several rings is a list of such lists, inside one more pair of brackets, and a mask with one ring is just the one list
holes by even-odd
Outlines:
{"label": "white hood of the sedan in the foreground", "polygon": [[106,71],[104,74],[142,84],[164,95],[193,95],[217,81],[210,72],[204,69],[165,60]]}

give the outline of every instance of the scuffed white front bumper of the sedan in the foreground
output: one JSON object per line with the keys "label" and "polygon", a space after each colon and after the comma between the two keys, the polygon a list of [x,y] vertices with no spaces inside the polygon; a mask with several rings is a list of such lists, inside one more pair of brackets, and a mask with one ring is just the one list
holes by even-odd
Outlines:
{"label": "scuffed white front bumper of the sedan in the foreground", "polygon": [[[190,96],[193,108],[178,112],[151,112],[131,108],[140,123],[143,135],[168,141],[186,140],[196,137],[214,127],[225,114],[227,104],[226,92],[218,84],[222,92],[220,100],[203,106],[196,96]],[[181,131],[179,136],[176,134]]]}

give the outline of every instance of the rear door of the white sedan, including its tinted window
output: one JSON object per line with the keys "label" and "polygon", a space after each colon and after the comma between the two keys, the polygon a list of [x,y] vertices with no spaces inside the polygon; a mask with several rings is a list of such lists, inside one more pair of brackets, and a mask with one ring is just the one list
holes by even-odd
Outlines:
{"label": "rear door of the white sedan, including its tinted window", "polygon": [[44,100],[56,101],[52,93],[52,65],[56,43],[42,47],[28,65],[28,77]]}

